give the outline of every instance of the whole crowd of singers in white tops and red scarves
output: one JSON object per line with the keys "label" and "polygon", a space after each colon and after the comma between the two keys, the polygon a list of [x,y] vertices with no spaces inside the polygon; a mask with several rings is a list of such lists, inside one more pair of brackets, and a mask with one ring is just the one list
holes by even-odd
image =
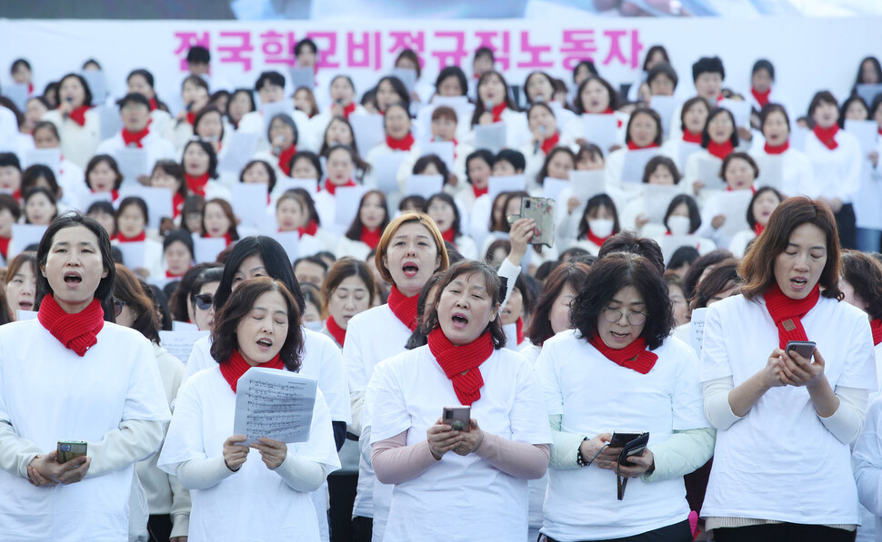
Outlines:
{"label": "whole crowd of singers in white tops and red scarves", "polygon": [[[195,46],[175,111],[16,60],[0,538],[876,539],[882,68],[803,114],[767,60],[738,94],[699,58],[684,103],[669,63],[429,84],[404,50],[358,96]],[[316,380],[305,442],[234,434],[254,367]]]}

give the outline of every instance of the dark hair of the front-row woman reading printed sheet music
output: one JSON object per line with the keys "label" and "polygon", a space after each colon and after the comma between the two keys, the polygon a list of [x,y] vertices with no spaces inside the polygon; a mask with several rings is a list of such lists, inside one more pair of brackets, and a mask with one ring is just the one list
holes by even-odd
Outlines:
{"label": "dark hair of the front-row woman reading printed sheet music", "polygon": [[230,360],[235,350],[239,350],[236,328],[239,322],[254,309],[257,299],[268,292],[277,291],[285,300],[288,310],[288,330],[279,359],[285,368],[292,372],[300,370],[300,355],[303,350],[303,333],[300,330],[300,308],[282,281],[268,277],[257,277],[244,281],[215,314],[215,330],[211,333],[211,357],[218,363]]}

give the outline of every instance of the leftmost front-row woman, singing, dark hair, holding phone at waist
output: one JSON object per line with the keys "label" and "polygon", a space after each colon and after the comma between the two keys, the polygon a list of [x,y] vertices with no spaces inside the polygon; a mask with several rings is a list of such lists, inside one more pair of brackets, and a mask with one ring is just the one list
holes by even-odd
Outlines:
{"label": "leftmost front-row woman, singing, dark hair, holding phone at waist", "polygon": [[[110,323],[115,266],[97,222],[60,217],[37,261],[38,318],[0,327],[0,479],[11,497],[0,499],[0,538],[125,540],[135,461],[159,447],[169,419],[153,350]],[[59,463],[66,435],[88,456]],[[35,517],[26,503],[53,513]]]}

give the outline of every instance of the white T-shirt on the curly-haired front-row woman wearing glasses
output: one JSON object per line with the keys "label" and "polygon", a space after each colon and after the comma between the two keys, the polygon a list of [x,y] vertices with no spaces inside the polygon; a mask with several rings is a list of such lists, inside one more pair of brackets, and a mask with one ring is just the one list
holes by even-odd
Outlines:
{"label": "white T-shirt on the curly-haired front-row woman wearing glasses", "polygon": [[[709,427],[703,411],[695,350],[669,337],[648,373],[617,365],[581,337],[561,331],[536,360],[550,416],[561,430],[594,437],[634,429],[649,432],[649,448],[674,431]],[[589,488],[589,490],[586,490]],[[687,519],[683,478],[628,482],[616,499],[616,473],[597,467],[548,469],[545,526],[559,540],[631,537]]]}

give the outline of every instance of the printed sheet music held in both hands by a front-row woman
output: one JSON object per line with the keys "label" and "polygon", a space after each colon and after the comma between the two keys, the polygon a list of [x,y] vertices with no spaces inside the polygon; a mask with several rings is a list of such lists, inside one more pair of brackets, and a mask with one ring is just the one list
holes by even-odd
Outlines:
{"label": "printed sheet music held in both hands by a front-row woman", "polygon": [[252,367],[236,384],[233,433],[248,444],[261,437],[286,444],[309,440],[316,379],[287,370]]}

